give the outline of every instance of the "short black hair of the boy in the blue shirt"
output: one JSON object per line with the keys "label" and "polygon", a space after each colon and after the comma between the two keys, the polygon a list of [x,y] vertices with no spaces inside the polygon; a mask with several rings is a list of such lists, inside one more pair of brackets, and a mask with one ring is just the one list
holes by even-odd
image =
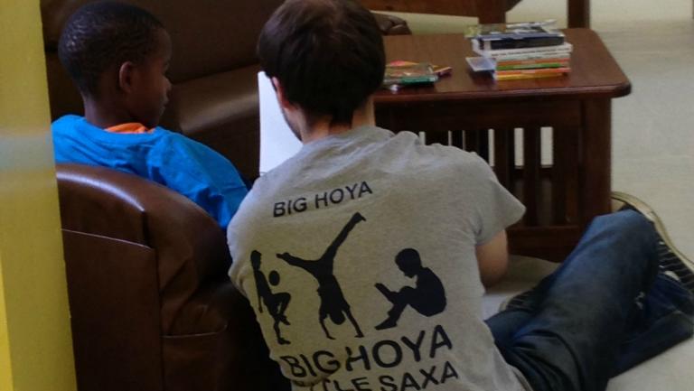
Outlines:
{"label": "short black hair of the boy in the blue shirt", "polygon": [[157,50],[164,25],[142,8],[115,2],[82,5],[61,33],[58,56],[84,95],[98,96],[98,79],[109,67],[140,63]]}

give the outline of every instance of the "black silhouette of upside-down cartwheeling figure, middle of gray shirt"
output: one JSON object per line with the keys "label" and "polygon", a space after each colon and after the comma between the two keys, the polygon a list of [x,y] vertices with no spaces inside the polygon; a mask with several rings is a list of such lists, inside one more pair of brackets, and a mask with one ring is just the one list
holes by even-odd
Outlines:
{"label": "black silhouette of upside-down cartwheeling figure, middle of gray shirt", "polygon": [[360,221],[366,221],[361,213],[354,213],[352,219],[347,222],[347,225],[342,228],[342,231],[335,237],[333,243],[330,244],[323,256],[316,260],[305,260],[296,256],[291,256],[289,253],[277,254],[277,257],[286,261],[287,264],[301,267],[306,272],[314,276],[318,281],[318,297],[321,298],[321,308],[319,309],[318,319],[321,322],[321,327],[325,336],[331,340],[334,338],[325,327],[325,318],[330,316],[330,319],[335,324],[342,324],[345,315],[352,322],[352,327],[357,332],[356,337],[361,338],[364,334],[359,328],[359,324],[354,320],[350,311],[350,304],[344,299],[342,288],[338,284],[337,279],[333,275],[333,264],[337,249],[342,245],[344,240],[349,235],[352,228]]}

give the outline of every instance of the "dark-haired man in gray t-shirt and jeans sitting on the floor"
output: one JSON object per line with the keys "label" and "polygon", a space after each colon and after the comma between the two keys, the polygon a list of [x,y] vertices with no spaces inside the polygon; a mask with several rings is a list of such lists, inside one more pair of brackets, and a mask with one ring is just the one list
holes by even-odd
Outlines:
{"label": "dark-haired man in gray t-shirt and jeans sitting on the floor", "polygon": [[483,321],[524,209],[478,156],[373,125],[385,61],[371,14],[287,0],[258,54],[304,145],[231,221],[230,278],[258,307],[254,251],[282,276],[285,343],[258,321],[295,390],[603,390],[691,335],[691,293],[659,273],[657,233],[633,210],[597,219],[556,274]]}

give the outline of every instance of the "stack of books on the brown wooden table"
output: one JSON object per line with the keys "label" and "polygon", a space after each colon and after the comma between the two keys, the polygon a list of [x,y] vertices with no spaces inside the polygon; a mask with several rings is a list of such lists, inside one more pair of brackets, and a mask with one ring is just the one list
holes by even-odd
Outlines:
{"label": "stack of books on the brown wooden table", "polygon": [[494,79],[531,79],[561,76],[571,71],[572,46],[553,22],[497,23],[469,26],[473,51],[483,59],[481,70],[492,70]]}

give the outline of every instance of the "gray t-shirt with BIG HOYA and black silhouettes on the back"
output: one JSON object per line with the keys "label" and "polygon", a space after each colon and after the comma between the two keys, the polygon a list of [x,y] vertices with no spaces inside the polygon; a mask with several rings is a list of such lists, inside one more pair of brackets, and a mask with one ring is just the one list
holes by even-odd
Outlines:
{"label": "gray t-shirt with BIG HOYA and black silhouettes on the back", "polygon": [[295,390],[522,390],[482,319],[475,247],[523,211],[476,154],[361,126],[258,179],[230,277]]}

